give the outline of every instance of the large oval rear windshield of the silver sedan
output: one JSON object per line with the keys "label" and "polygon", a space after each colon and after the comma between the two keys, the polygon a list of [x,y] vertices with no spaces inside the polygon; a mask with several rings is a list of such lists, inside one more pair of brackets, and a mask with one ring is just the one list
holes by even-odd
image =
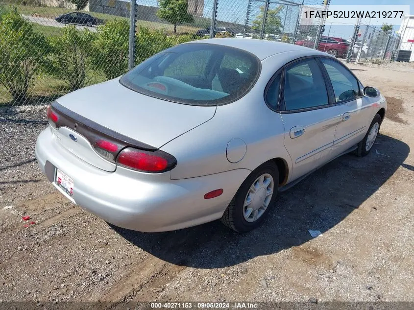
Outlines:
{"label": "large oval rear windshield of the silver sedan", "polygon": [[244,96],[260,73],[260,61],[238,48],[190,43],[166,49],[122,76],[138,93],[191,105],[218,105]]}

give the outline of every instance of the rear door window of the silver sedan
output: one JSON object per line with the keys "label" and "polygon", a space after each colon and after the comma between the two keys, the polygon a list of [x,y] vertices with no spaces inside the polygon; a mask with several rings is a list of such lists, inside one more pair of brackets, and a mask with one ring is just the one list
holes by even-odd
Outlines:
{"label": "rear door window of the silver sedan", "polygon": [[315,59],[305,59],[285,69],[284,102],[287,111],[329,104],[322,72]]}

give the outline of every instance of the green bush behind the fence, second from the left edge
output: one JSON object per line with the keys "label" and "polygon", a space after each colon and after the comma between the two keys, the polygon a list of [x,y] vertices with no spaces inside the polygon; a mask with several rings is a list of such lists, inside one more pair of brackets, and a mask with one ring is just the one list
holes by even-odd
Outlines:
{"label": "green bush behind the fence, second from the left edge", "polygon": [[49,73],[66,81],[74,91],[86,85],[95,35],[88,29],[77,30],[75,26],[65,26],[62,32],[61,36],[49,38],[53,54]]}

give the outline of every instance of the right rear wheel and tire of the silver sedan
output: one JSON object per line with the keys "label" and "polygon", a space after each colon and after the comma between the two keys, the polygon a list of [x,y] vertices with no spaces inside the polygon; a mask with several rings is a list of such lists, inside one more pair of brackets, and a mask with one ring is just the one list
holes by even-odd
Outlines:
{"label": "right rear wheel and tire of the silver sedan", "polygon": [[273,206],[279,185],[279,171],[267,162],[250,173],[221,217],[221,222],[236,232],[258,227]]}

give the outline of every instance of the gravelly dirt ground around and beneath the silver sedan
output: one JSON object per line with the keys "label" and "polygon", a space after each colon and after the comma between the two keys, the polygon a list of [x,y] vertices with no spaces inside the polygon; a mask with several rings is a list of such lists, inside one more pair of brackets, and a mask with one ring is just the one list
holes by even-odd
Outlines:
{"label": "gravelly dirt ground around and beneath the silver sedan", "polygon": [[247,234],[218,221],[156,234],[108,225],[40,173],[46,108],[2,109],[0,300],[414,301],[414,66],[349,67],[388,99],[372,152],[283,192]]}

